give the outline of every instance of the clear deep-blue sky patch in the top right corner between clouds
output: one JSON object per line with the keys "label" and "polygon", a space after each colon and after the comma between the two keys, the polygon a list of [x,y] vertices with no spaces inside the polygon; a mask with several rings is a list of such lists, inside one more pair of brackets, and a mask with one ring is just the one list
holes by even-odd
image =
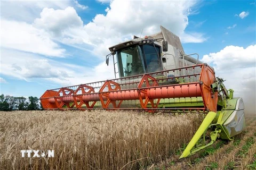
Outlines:
{"label": "clear deep-blue sky patch in the top right corner between clouds", "polygon": [[[244,19],[235,16],[243,11],[249,12]],[[189,21],[187,31],[203,32],[208,39],[204,43],[184,44],[186,53],[193,53],[196,49],[203,56],[219,52],[229,45],[242,47],[255,45],[255,4],[253,2],[203,2],[199,13],[189,16]],[[228,29],[233,25],[236,25],[235,28]]]}

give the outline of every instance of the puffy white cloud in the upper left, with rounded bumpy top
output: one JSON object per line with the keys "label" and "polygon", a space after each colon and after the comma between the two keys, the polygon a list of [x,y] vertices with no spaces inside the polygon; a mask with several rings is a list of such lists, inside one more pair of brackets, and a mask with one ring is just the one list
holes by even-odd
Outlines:
{"label": "puffy white cloud in the upper left, with rounded bumpy top", "polygon": [[61,35],[62,31],[83,26],[83,21],[73,7],[67,7],[65,10],[44,8],[40,16],[41,18],[34,21],[35,27],[45,29],[54,35]]}

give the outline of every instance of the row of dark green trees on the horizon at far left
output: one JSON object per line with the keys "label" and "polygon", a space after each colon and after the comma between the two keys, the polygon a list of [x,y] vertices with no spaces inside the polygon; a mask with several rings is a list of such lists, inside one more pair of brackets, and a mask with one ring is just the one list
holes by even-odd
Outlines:
{"label": "row of dark green trees on the horizon at far left", "polygon": [[0,96],[0,111],[36,111],[42,106],[37,97]]}

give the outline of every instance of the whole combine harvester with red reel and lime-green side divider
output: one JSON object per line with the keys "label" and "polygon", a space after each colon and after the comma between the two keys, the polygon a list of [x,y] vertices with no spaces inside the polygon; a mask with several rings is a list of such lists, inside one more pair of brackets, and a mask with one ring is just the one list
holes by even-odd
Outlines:
{"label": "whole combine harvester with red reel and lime-green side divider", "polygon": [[[243,99],[233,98],[234,91],[225,88],[211,66],[198,61],[198,54],[186,55],[179,37],[169,30],[161,26],[155,35],[134,36],[109,50],[106,63],[112,55],[119,78],[47,90],[40,98],[43,108],[205,113],[180,158],[242,132]],[[210,140],[206,131],[211,131]]]}

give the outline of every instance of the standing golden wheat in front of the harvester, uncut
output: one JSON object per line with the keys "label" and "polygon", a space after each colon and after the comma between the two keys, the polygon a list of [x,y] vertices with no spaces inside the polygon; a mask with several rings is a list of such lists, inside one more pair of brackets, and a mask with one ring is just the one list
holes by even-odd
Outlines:
{"label": "standing golden wheat in front of the harvester, uncut", "polygon": [[[204,115],[0,112],[0,169],[145,169],[180,152]],[[21,157],[20,150],[54,150]],[[157,168],[157,167],[156,167]]]}

